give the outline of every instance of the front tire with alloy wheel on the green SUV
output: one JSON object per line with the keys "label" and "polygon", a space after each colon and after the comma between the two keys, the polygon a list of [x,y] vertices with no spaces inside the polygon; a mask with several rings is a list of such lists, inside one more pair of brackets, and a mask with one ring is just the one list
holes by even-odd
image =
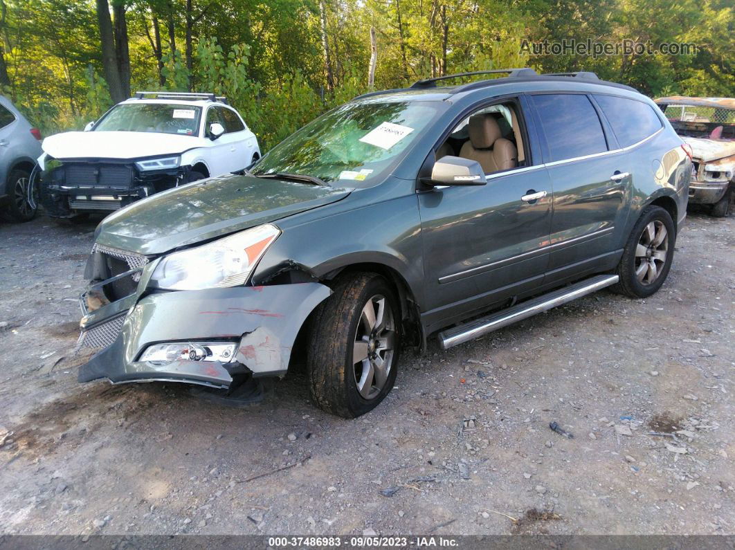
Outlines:
{"label": "front tire with alloy wheel on the green SUV", "polygon": [[309,382],[319,408],[353,419],[395,383],[401,315],[392,286],[375,273],[345,276],[333,291],[312,318]]}

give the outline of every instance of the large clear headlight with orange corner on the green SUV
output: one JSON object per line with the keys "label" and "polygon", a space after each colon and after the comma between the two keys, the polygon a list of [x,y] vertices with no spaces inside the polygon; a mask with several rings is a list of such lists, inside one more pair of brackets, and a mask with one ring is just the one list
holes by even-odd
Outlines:
{"label": "large clear headlight with orange corner on the green SUV", "polygon": [[248,280],[255,264],[280,234],[279,228],[267,223],[170,254],[158,264],[151,282],[170,290],[239,286]]}

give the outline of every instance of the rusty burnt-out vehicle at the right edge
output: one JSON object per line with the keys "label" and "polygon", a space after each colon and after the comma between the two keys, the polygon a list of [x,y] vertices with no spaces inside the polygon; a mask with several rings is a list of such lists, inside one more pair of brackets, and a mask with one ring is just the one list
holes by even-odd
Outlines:
{"label": "rusty burnt-out vehicle at the right edge", "polygon": [[735,199],[735,98],[656,99],[684,141],[692,147],[689,204],[709,205],[725,217]]}

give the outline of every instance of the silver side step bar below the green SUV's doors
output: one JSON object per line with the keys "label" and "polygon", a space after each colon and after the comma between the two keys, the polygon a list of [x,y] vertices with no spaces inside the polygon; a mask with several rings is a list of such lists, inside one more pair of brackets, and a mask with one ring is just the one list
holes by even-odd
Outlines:
{"label": "silver side step bar below the green SUV's doors", "polygon": [[439,333],[439,344],[442,350],[448,350],[450,347],[464,344],[466,341],[476,339],[478,336],[490,333],[498,328],[507,327],[514,322],[528,319],[528,317],[556,308],[572,300],[576,300],[585,294],[592,294],[606,286],[617,283],[617,275],[595,275],[579,283],[571,286],[564,286],[563,289],[543,294],[532,300],[526,300],[511,308],[503,309],[497,313],[490,314],[481,319],[467,322]]}

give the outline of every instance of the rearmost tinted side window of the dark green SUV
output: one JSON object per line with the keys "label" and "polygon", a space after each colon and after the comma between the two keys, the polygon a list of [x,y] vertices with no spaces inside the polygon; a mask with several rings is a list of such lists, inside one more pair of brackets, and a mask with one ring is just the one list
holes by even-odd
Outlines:
{"label": "rearmost tinted side window of the dark green SUV", "polygon": [[595,95],[600,109],[609,120],[620,147],[628,147],[661,128],[661,120],[648,104],[614,95]]}

